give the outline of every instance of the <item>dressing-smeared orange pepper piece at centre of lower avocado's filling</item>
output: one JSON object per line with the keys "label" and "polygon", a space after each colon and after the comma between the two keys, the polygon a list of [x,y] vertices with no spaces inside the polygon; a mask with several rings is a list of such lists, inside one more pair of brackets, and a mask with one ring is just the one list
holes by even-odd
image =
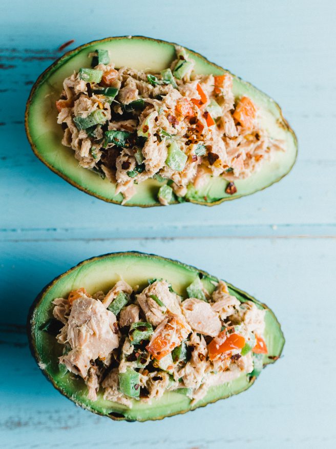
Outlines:
{"label": "dressing-smeared orange pepper piece at centre of lower avocado's filling", "polygon": [[[148,352],[157,360],[170,354],[190,334],[190,329],[178,317],[171,317],[158,335],[153,335],[146,346]],[[173,341],[172,341],[173,340]]]}

